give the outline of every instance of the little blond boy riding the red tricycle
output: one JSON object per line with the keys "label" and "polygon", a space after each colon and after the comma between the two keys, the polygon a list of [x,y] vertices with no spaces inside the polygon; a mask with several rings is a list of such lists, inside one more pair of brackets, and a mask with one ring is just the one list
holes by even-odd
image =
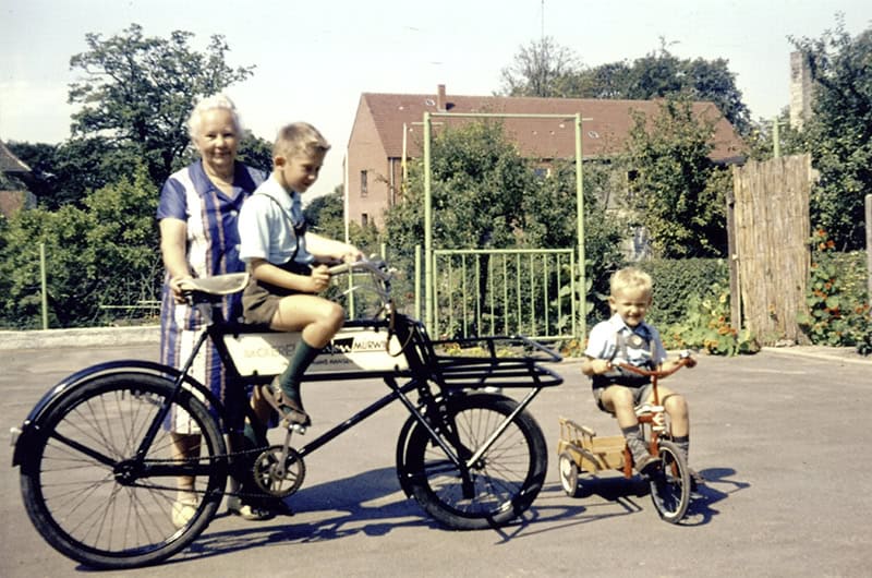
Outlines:
{"label": "little blond boy riding the red tricycle", "polygon": [[[591,332],[581,371],[592,378],[597,407],[617,418],[635,470],[647,475],[659,467],[661,460],[649,454],[633,408],[653,401],[651,380],[621,371],[617,364],[623,362],[653,370],[666,361],[659,333],[644,321],[652,302],[653,282],[646,273],[627,267],[611,276],[609,289],[611,318],[597,323]],[[678,361],[669,362],[669,366],[675,363]],[[687,460],[690,446],[687,401],[666,387],[657,389],[661,404],[669,414],[673,441]],[[693,470],[690,473],[694,486],[704,483],[699,473]]]}

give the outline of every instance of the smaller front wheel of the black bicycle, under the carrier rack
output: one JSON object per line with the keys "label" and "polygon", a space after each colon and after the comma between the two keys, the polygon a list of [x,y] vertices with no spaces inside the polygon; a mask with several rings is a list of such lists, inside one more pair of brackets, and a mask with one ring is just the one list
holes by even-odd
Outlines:
{"label": "smaller front wheel of the black bicycle, under the carrier rack", "polygon": [[[471,455],[517,407],[513,399],[492,394],[451,398],[448,418],[461,449],[450,445],[461,456]],[[420,423],[409,434],[404,461],[409,489],[427,514],[455,530],[480,530],[506,525],[530,507],[542,490],[548,457],[542,429],[524,410],[470,468],[472,492],[465,495],[460,469]]]}

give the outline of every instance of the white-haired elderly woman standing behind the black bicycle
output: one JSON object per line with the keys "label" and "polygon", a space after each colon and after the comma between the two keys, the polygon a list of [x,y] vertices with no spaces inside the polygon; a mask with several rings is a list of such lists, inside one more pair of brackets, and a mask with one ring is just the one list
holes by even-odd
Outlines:
{"label": "white-haired elderly woman standing behind the black bicycle", "polygon": [[[243,133],[235,107],[227,96],[218,94],[201,100],[187,127],[201,158],[167,179],[157,209],[160,252],[167,269],[160,314],[160,361],[173,368],[180,366],[190,354],[203,327],[196,311],[181,299],[179,281],[245,270],[245,264],[239,260],[237,216],[242,203],[266,178],[265,172],[237,161]],[[237,318],[241,313],[241,296],[226,297],[226,318]],[[218,399],[227,400],[225,370],[211,345],[197,356],[191,373]],[[240,425],[232,429],[239,433]],[[187,416],[173,417],[172,438],[177,456],[199,454],[198,430]],[[178,484],[172,518],[181,527],[192,517],[197,495],[193,492],[193,478],[179,478]],[[245,504],[237,496],[228,498],[228,508],[246,519],[266,519],[271,515],[268,509]]]}

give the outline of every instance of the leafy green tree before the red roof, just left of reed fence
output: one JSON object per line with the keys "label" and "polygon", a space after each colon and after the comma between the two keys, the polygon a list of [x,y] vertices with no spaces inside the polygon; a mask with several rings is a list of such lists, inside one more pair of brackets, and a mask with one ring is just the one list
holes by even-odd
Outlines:
{"label": "leafy green tree before the red roof, just left of reed fence", "polygon": [[634,116],[625,162],[627,203],[652,239],[655,256],[726,254],[728,171],[708,158],[714,119],[698,119],[687,99],[668,98],[653,119]]}

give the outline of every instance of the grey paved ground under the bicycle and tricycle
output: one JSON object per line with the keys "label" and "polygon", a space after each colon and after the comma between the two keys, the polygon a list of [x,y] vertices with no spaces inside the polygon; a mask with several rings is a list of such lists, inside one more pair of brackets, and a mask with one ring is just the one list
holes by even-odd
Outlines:
{"label": "grey paved ground under the bicycle and tricycle", "polygon": [[[153,359],[154,346],[5,350],[3,431],[63,375],[108,359]],[[402,408],[388,408],[307,459],[290,499],[296,515],[266,522],[221,516],[186,552],[124,576],[868,576],[872,564],[872,362],[764,351],[700,359],[670,377],[688,395],[692,465],[710,479],[682,526],[658,520],[644,484],[616,475],[589,495],[560,490],[557,419],[617,433],[594,409],[577,363],[532,411],[549,445],[546,486],[502,530],[437,528],[393,473]],[[310,384],[319,430],[383,393],[377,382]],[[314,432],[313,432],[314,433]],[[0,445],[9,465],[11,450]],[[86,571],[51,550],[26,517],[19,471],[0,474],[0,576]],[[120,573],[102,573],[116,576]]]}

